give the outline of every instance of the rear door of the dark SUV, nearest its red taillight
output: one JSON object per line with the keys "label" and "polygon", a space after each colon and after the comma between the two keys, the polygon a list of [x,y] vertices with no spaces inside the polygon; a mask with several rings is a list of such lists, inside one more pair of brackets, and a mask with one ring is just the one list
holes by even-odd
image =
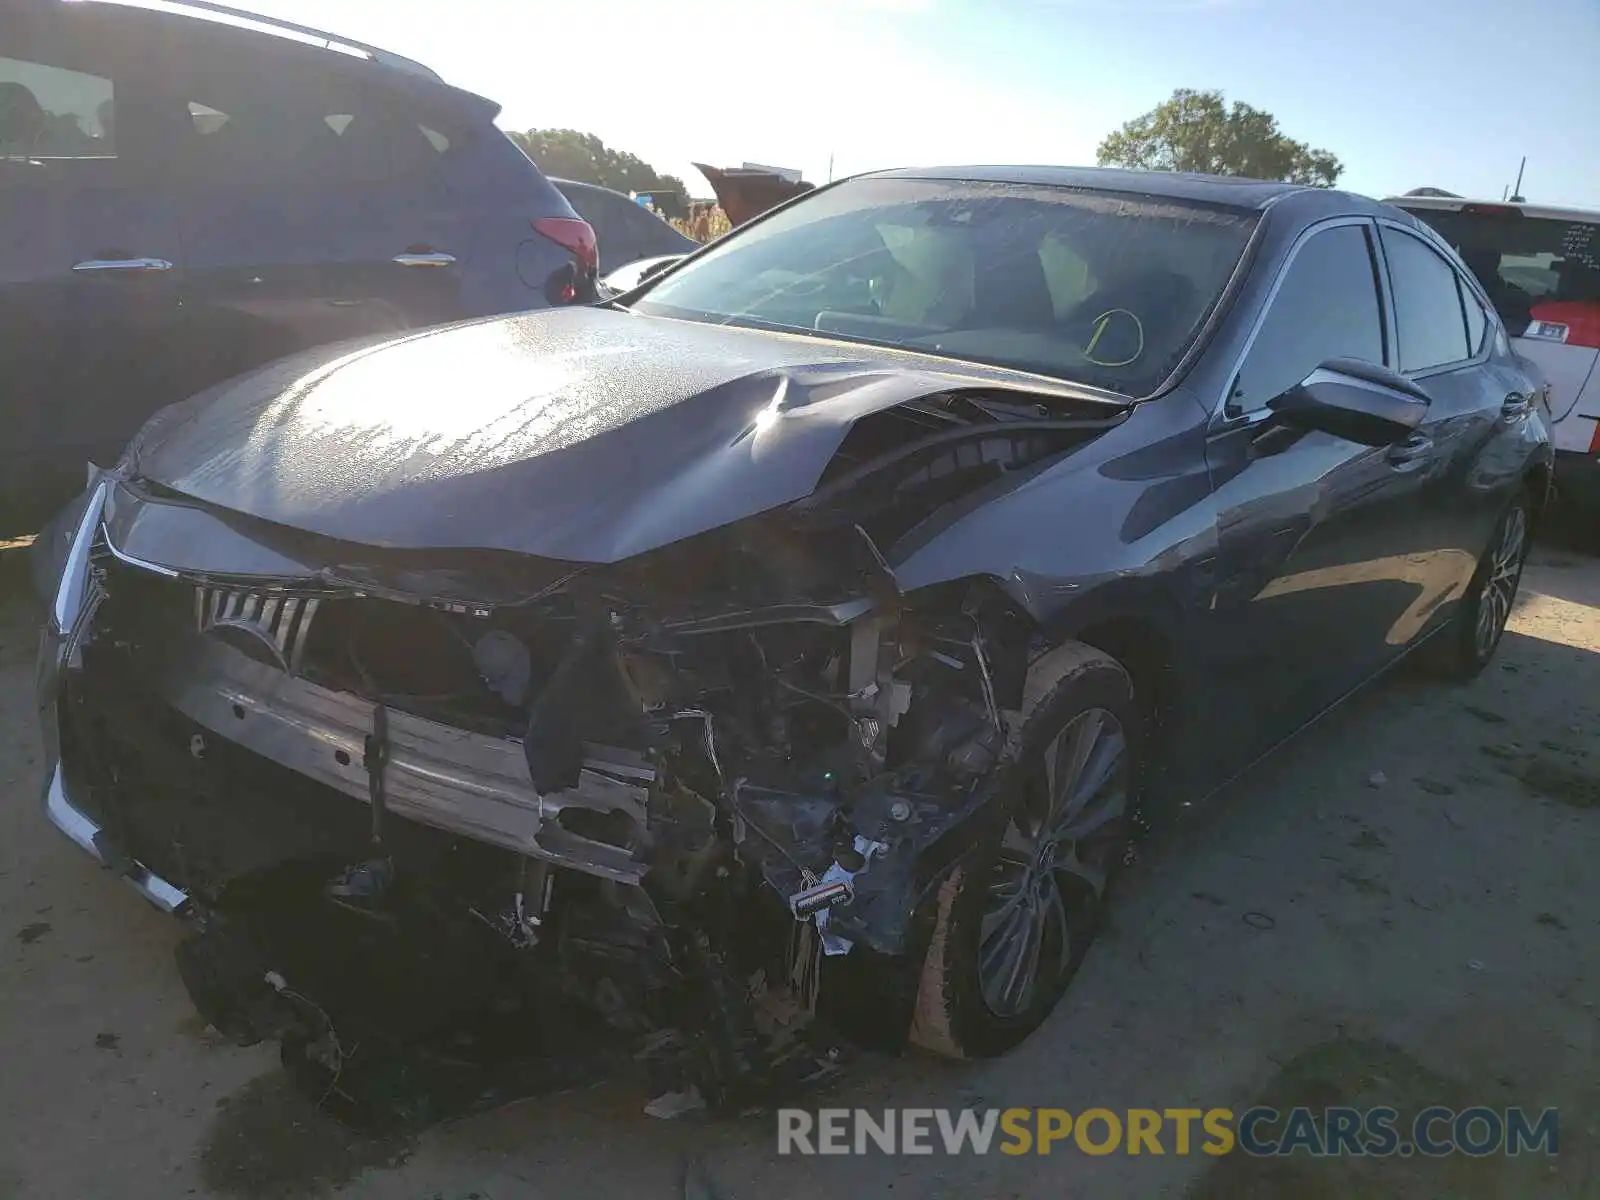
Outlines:
{"label": "rear door of the dark SUV, nearest its red taillight", "polygon": [[206,376],[462,314],[472,230],[440,170],[453,131],[366,74],[214,54],[168,78],[187,122],[171,147],[186,342]]}

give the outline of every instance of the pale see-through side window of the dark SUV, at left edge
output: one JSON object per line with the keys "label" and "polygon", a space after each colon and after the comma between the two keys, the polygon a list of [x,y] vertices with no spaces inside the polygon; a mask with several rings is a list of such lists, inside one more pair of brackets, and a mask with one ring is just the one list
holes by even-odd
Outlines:
{"label": "pale see-through side window of the dark SUV, at left edge", "polygon": [[0,58],[0,158],[115,158],[117,98],[109,78]]}

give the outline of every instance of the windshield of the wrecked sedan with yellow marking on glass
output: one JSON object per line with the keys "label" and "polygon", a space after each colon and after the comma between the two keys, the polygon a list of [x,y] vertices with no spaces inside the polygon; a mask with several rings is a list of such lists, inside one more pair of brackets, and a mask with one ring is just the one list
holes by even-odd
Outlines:
{"label": "windshield of the wrecked sedan with yellow marking on glass", "polygon": [[648,315],[803,330],[1147,395],[1254,216],[1109,192],[869,178],[730,235]]}

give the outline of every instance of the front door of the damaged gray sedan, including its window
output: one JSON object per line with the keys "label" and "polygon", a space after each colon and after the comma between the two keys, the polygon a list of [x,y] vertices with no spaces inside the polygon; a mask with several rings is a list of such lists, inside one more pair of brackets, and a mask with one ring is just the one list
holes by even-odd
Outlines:
{"label": "front door of the damaged gray sedan, including its window", "polygon": [[1373,237],[1344,221],[1298,245],[1208,440],[1218,549],[1192,754],[1213,782],[1397,653],[1440,586],[1408,554],[1429,451],[1290,430],[1267,410],[1330,358],[1387,365]]}

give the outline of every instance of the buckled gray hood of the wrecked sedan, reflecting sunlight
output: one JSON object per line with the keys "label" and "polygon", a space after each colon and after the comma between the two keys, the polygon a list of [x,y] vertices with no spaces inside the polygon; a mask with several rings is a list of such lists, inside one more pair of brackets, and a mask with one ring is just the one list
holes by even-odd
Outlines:
{"label": "buckled gray hood of the wrecked sedan, reflecting sunlight", "polygon": [[811,493],[862,416],[1040,376],[819,338],[555,309],[322,347],[163,410],[126,458],[347,542],[606,563]]}

